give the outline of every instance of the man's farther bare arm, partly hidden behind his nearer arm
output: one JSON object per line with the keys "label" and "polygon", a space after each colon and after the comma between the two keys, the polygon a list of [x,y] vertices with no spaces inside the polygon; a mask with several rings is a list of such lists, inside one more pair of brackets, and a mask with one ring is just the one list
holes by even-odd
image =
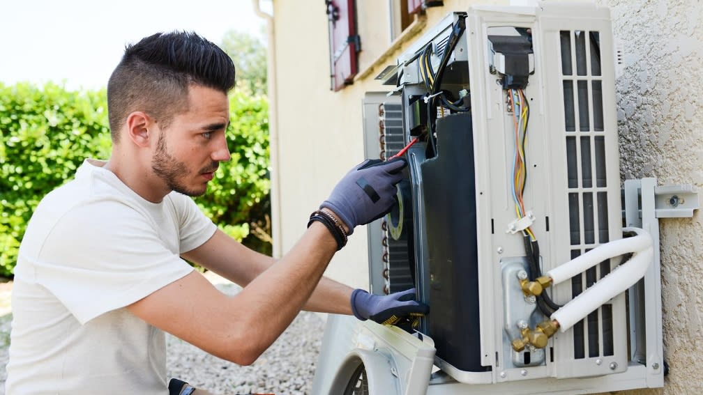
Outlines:
{"label": "man's farther bare arm, partly hidden behind his nearer arm", "polygon": [[[220,230],[200,247],[183,254],[183,258],[242,287],[246,287],[276,263],[276,259],[250,250]],[[352,291],[347,285],[323,277],[303,309],[321,313],[351,314],[349,299]]]}

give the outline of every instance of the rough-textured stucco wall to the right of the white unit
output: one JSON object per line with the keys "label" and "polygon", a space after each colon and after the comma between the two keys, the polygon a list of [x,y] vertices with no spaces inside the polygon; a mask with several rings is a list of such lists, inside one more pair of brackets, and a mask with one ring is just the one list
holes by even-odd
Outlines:
{"label": "rough-textured stucco wall to the right of the white unit", "polygon": [[[604,1],[624,44],[617,81],[621,176],[703,185],[703,3]],[[703,227],[662,219],[664,394],[703,393]],[[634,392],[634,391],[633,391]],[[638,393],[659,393],[640,391]]]}

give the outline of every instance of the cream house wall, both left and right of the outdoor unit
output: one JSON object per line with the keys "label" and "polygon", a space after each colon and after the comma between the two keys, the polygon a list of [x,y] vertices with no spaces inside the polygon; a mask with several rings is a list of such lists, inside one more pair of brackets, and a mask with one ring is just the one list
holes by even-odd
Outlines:
{"label": "cream house wall, both left and right of the outdoor unit", "polygon": [[[390,43],[387,4],[357,0],[360,69]],[[621,174],[657,176],[659,183],[703,185],[703,3],[697,0],[599,1],[612,7],[614,34],[625,44],[617,82]],[[483,4],[486,1],[482,2]],[[490,1],[492,4],[498,1]],[[507,4],[507,1],[501,3]],[[432,27],[450,11],[477,1],[445,0],[427,12]],[[363,157],[361,102],[387,91],[368,77],[340,92],[329,89],[327,19],[321,0],[273,1],[278,81],[280,240],[285,252],[344,173]],[[411,40],[412,41],[412,40]],[[384,65],[394,63],[401,50]],[[664,347],[671,373],[664,394],[703,393],[703,224],[666,219],[661,226]],[[327,275],[368,289],[366,229],[359,227]],[[662,391],[632,391],[650,394]]]}

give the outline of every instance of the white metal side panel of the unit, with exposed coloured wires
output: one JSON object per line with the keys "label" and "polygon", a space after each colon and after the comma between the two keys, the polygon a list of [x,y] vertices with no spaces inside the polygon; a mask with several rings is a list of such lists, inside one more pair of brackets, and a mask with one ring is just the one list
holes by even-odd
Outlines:
{"label": "white metal side panel of the unit, with exposed coloured wires", "polygon": [[[517,12],[516,12],[517,11]],[[572,245],[569,234],[569,194],[579,202],[590,194],[595,202],[599,192],[607,194],[607,233],[610,240],[620,238],[620,193],[619,193],[619,153],[617,148],[617,117],[614,97],[614,66],[609,56],[612,53],[612,27],[610,11],[593,4],[543,3],[537,8],[475,8],[467,16],[468,46],[472,48],[470,63],[470,84],[472,92],[472,112],[474,129],[475,163],[477,186],[478,247],[479,247],[479,311],[482,335],[482,364],[492,366],[494,382],[521,380],[522,368],[505,369],[510,361],[510,350],[503,347],[503,298],[501,297],[501,259],[524,255],[524,247],[519,237],[510,237],[503,232],[491,233],[491,224],[503,229],[515,220],[512,197],[509,195],[510,154],[514,149],[511,140],[512,119],[505,110],[505,95],[496,84],[496,75],[491,75],[486,65],[491,53],[485,44],[485,37],[491,27],[525,27],[532,31],[535,72],[529,77],[525,89],[531,105],[528,127],[527,187],[524,191],[526,209],[535,213],[538,221],[533,225],[542,252],[543,271],[572,259],[572,250],[593,248],[602,240],[595,237],[591,242],[584,240],[584,207],[579,210],[581,228],[578,244]],[[562,75],[561,32],[569,32],[571,48],[576,48],[574,32],[599,32],[600,53],[606,59],[600,62],[600,76],[591,75],[591,57],[586,45],[585,75],[576,75],[576,51],[572,51],[572,75]],[[602,84],[602,131],[593,128],[593,111],[589,112],[588,127],[579,128],[579,97],[574,87],[570,93],[574,103],[575,127],[579,130],[565,131],[565,84],[586,84],[585,94],[593,97],[593,80]],[[591,186],[585,186],[581,169],[581,139],[588,140],[591,156],[595,153],[595,137],[602,138],[605,148],[605,186],[596,186],[595,160],[590,162]],[[569,186],[567,180],[567,138],[576,141],[576,171],[578,184]],[[601,195],[602,196],[602,195]],[[590,212],[591,221],[598,221],[597,205]],[[548,219],[547,219],[548,218]],[[547,225],[548,221],[548,225]],[[549,231],[547,231],[549,226]],[[597,228],[598,226],[596,226]],[[598,236],[598,232],[595,232]],[[501,251],[499,254],[498,251]],[[599,276],[600,277],[600,276]],[[565,303],[572,298],[570,284],[555,287],[553,299]],[[602,349],[594,357],[574,358],[573,331],[555,335],[548,347],[554,347],[553,355],[557,363],[542,367],[528,368],[528,377],[583,377],[586,375],[610,374],[626,368],[626,321],[624,319],[624,296],[612,303],[613,333],[617,349],[614,355],[604,356]],[[598,323],[598,325],[602,325]],[[598,328],[602,334],[602,328]],[[586,337],[588,339],[588,337]],[[602,347],[602,341],[599,342]],[[584,347],[588,349],[588,344]],[[552,354],[546,353],[548,358]],[[496,360],[497,356],[497,360]],[[598,361],[600,360],[600,363]],[[611,369],[611,363],[617,367]],[[501,368],[503,367],[503,368]],[[503,373],[503,374],[501,374]]]}

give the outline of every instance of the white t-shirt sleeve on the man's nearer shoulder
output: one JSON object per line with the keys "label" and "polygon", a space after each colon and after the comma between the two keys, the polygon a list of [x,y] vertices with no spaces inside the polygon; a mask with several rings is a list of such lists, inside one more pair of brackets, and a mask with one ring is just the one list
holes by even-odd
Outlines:
{"label": "white t-shirt sleeve on the man's nearer shoulder", "polygon": [[[193,231],[185,239],[197,244],[210,236]],[[51,229],[35,267],[37,282],[82,324],[193,271],[143,212],[115,201],[67,212]]]}

